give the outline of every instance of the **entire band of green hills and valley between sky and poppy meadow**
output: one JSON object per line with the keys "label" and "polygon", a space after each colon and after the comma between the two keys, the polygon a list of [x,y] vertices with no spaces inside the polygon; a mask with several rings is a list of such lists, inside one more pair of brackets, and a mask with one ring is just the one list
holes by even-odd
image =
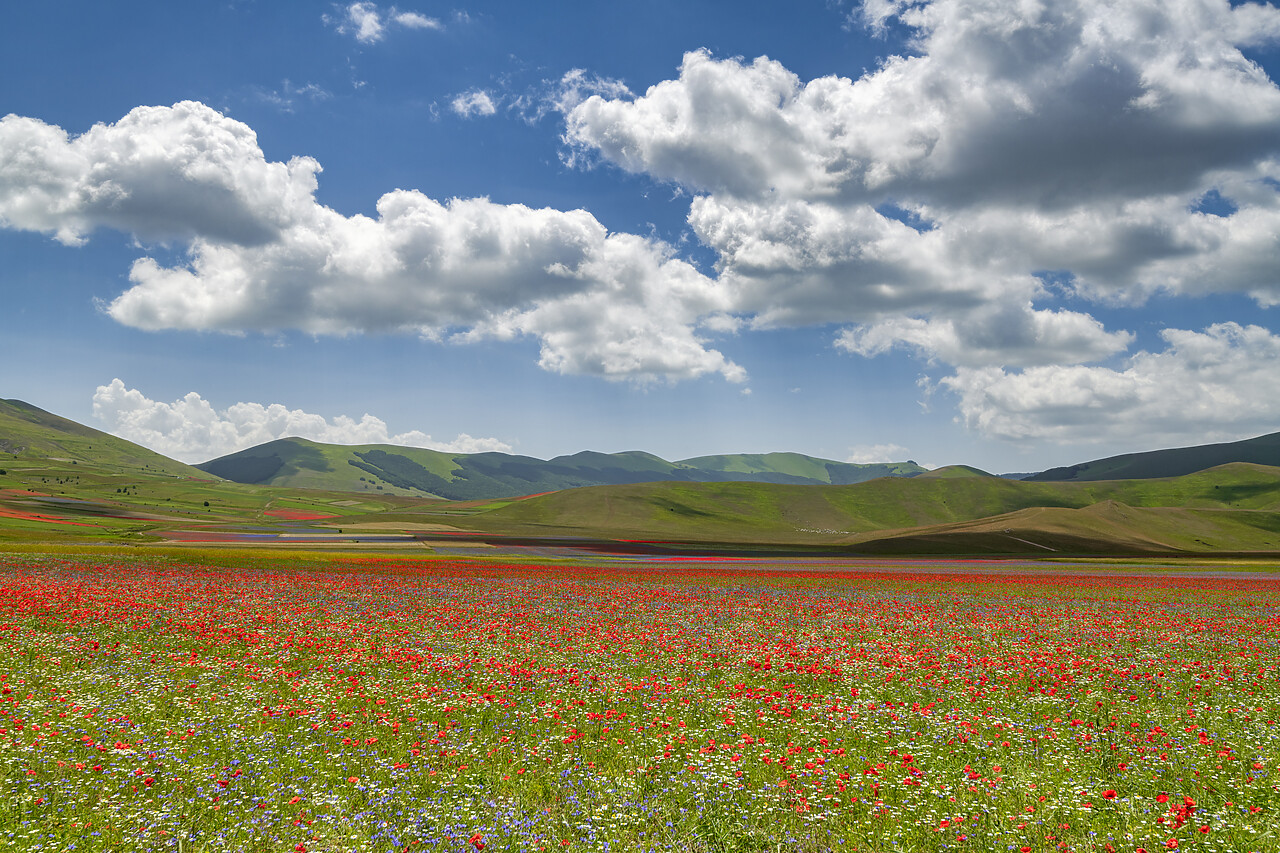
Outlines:
{"label": "entire band of green hills and valley between sky and poppy meadow", "polygon": [[824,553],[1275,555],[1280,466],[1267,462],[1280,461],[1277,446],[1280,434],[1132,453],[1021,482],[964,465],[925,471],[799,453],[536,460],[303,439],[189,466],[10,400],[0,401],[0,540],[394,534],[438,547],[430,539],[442,534],[428,532],[443,530],[451,542]]}

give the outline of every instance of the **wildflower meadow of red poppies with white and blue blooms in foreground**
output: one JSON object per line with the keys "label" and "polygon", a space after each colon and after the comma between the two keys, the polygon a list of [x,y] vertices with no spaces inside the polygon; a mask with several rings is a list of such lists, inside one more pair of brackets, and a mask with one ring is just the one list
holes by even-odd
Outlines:
{"label": "wildflower meadow of red poppies with white and blue blooms in foreground", "polygon": [[0,847],[1280,850],[1267,575],[223,562],[0,556]]}

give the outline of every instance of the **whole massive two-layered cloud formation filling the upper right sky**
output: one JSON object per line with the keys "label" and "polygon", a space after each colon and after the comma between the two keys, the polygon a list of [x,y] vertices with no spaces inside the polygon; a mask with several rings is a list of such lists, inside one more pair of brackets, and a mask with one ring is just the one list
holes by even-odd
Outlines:
{"label": "whole massive two-layered cloud formation filling the upper right sky", "polygon": [[[1280,88],[1242,53],[1280,10],[1228,0],[877,0],[913,55],[808,82],[686,54],[643,95],[567,101],[572,159],[695,195],[753,325],[850,323],[837,346],[965,366],[1087,362],[1126,332],[1075,295],[1280,302]],[[1228,216],[1198,209],[1217,192]],[[1012,307],[1010,307],[1012,306]]]}

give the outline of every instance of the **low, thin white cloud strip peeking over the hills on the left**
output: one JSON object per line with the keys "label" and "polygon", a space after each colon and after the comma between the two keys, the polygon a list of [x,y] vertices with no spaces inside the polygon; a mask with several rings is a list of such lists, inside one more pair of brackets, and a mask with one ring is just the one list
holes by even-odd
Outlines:
{"label": "low, thin white cloud strip peeking over the hills on the left", "polygon": [[93,416],[108,432],[184,462],[204,462],[278,438],[307,438],[326,444],[399,444],[451,453],[511,452],[497,438],[474,438],[466,433],[452,442],[439,442],[420,430],[393,434],[380,418],[365,414],[360,420],[239,402],[218,411],[192,391],[180,400],[159,402],[119,379],[99,386],[93,393]]}

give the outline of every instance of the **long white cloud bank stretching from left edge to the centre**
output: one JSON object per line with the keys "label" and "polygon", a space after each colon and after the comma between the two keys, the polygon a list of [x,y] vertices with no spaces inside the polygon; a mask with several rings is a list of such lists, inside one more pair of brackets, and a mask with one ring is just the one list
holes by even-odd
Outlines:
{"label": "long white cloud bank stretching from left edge to the centre", "polygon": [[96,228],[186,241],[140,257],[106,313],[142,329],[532,334],[562,373],[653,382],[741,368],[699,319],[728,292],[655,240],[585,210],[436,201],[408,190],[376,216],[316,202],[320,165],[269,161],[253,131],[198,102],[137,108],[79,137],[0,119],[0,223],[78,245]]}

